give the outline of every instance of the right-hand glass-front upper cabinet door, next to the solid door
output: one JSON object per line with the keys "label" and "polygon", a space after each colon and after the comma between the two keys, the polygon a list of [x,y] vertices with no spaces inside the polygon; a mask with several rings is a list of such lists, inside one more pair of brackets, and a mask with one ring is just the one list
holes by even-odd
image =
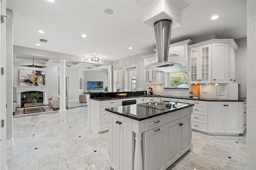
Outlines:
{"label": "right-hand glass-front upper cabinet door, next to the solid door", "polygon": [[211,61],[212,61],[212,45],[204,45],[200,46],[200,76],[199,82],[200,83],[212,83],[212,73],[211,73]]}

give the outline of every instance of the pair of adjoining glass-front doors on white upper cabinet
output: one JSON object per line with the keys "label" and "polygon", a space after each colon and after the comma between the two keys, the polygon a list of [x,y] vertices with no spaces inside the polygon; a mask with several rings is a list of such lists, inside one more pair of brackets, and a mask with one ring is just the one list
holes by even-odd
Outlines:
{"label": "pair of adjoining glass-front doors on white upper cabinet", "polygon": [[189,49],[190,83],[211,83],[211,44]]}

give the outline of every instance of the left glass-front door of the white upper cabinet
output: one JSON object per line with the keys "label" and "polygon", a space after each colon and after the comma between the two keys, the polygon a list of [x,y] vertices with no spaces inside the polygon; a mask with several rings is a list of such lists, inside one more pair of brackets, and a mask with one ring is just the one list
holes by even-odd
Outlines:
{"label": "left glass-front door of the white upper cabinet", "polygon": [[190,83],[198,83],[198,48],[190,49]]}

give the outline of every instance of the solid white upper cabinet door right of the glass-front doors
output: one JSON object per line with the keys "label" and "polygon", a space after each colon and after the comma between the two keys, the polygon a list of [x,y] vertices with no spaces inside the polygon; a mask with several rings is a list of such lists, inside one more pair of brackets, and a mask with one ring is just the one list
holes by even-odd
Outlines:
{"label": "solid white upper cabinet door right of the glass-front doors", "polygon": [[228,83],[228,43],[212,44],[212,83]]}

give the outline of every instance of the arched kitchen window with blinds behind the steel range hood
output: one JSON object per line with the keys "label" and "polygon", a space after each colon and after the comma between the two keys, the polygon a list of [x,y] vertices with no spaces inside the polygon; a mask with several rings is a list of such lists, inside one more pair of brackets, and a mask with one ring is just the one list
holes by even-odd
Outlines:
{"label": "arched kitchen window with blinds behind the steel range hood", "polygon": [[175,55],[169,57],[168,61],[181,64],[182,70],[178,73],[166,73],[166,87],[188,88],[188,67],[186,67],[184,59]]}

